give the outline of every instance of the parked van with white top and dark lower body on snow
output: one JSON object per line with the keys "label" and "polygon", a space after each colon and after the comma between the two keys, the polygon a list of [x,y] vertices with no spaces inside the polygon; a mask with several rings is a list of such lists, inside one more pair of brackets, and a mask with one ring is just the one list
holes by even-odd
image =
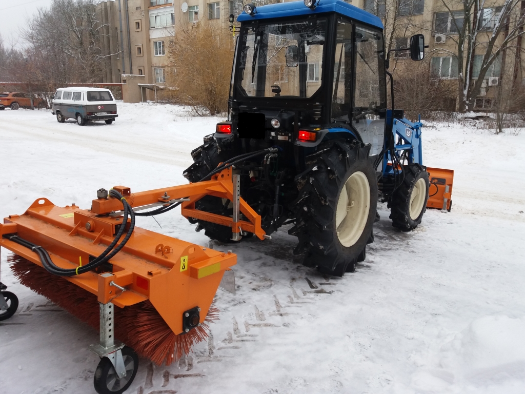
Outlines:
{"label": "parked van with white top and dark lower body on snow", "polygon": [[88,121],[104,120],[111,125],[117,115],[117,102],[109,89],[60,88],[53,97],[53,115],[60,123],[76,119],[80,126]]}

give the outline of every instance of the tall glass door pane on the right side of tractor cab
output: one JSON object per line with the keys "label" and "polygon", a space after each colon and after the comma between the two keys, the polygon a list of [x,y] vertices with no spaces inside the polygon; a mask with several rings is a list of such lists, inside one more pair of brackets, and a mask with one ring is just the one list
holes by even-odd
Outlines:
{"label": "tall glass door pane on the right side of tractor cab", "polygon": [[352,126],[371,155],[381,153],[385,131],[386,90],[383,35],[356,26],[354,35],[355,79]]}

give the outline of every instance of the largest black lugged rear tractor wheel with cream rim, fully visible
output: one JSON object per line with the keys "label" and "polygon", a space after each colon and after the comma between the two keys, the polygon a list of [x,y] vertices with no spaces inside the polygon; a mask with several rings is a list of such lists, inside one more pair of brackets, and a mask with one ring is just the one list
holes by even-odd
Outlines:
{"label": "largest black lugged rear tractor wheel with cream rim, fully visible", "polygon": [[296,225],[289,233],[299,239],[294,253],[303,264],[343,276],[364,261],[372,243],[377,208],[377,179],[370,145],[331,140],[306,158],[308,170],[297,175]]}

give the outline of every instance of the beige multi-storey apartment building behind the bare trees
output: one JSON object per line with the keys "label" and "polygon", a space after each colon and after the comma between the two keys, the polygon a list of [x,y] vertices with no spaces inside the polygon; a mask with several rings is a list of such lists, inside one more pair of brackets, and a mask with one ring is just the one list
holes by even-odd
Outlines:
{"label": "beige multi-storey apartment building behind the bare trees", "polygon": [[[281,0],[262,1],[274,3]],[[477,22],[480,26],[478,40],[481,45],[478,45],[474,54],[473,67],[470,70],[472,78],[479,75],[482,56],[485,53],[482,43],[491,34],[504,1],[493,0],[490,7],[481,10],[481,17]],[[394,9],[397,2],[390,0],[353,0],[349,3],[383,19],[387,46],[392,42],[393,48],[406,47],[411,35],[423,34],[425,43],[429,45],[427,56],[432,57],[430,67],[433,73],[448,80],[451,88],[457,87],[457,38],[463,25],[462,3],[402,0],[398,9]],[[144,84],[163,86],[169,67],[168,50],[175,43],[176,27],[184,24],[197,26],[205,20],[206,23],[219,24],[228,29],[229,15],[234,14],[236,17],[243,11],[243,0],[108,0],[100,3],[99,7],[103,15],[102,22],[108,25],[105,27],[107,39],[104,40],[104,45],[107,46],[107,53],[112,54],[108,57],[107,82],[125,81],[123,76],[126,75],[143,75]],[[408,53],[396,52],[392,61],[400,64],[402,70],[406,57]],[[507,61],[507,64],[508,67],[516,68],[516,61],[519,63],[518,78],[521,80],[522,55],[513,60],[512,65],[510,61]],[[493,87],[500,84],[501,64],[500,56],[487,72],[476,100],[478,109],[489,108],[492,105],[495,91]],[[310,82],[319,81],[316,62],[312,60],[308,67]],[[286,76],[284,72],[282,74],[284,82]],[[152,97],[152,93],[149,92],[148,99]]]}

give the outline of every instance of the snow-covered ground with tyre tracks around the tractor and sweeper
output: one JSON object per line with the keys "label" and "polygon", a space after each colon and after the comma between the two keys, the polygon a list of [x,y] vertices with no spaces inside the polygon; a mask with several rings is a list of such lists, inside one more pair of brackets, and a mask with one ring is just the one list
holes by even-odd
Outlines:
{"label": "snow-covered ground with tyre tracks around the tractor and sweeper", "polygon": [[[0,217],[39,197],[85,208],[97,189],[185,183],[190,151],[218,118],[180,107],[119,105],[119,118],[79,127],[49,111],[0,112]],[[293,256],[294,237],[222,245],[178,212],[138,225],[238,254],[237,294],[219,289],[220,320],[170,367],[141,360],[129,393],[525,392],[525,133],[458,125],[423,134],[429,167],[455,170],[453,210],[393,229],[380,204],[375,242],[353,274],[325,277]],[[18,284],[0,323],[0,393],[92,393],[98,334]]]}

